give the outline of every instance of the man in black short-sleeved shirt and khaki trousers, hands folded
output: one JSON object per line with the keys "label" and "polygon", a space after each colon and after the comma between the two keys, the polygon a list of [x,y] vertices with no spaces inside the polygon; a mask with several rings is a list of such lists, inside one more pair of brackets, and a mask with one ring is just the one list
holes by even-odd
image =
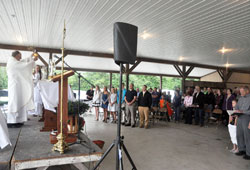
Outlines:
{"label": "man in black short-sleeved shirt and khaki trousers, hands folded", "polygon": [[126,102],[126,119],[127,119],[125,126],[131,126],[132,128],[135,127],[136,98],[137,98],[137,92],[134,90],[134,84],[131,83],[129,85],[129,90],[126,92],[124,100]]}

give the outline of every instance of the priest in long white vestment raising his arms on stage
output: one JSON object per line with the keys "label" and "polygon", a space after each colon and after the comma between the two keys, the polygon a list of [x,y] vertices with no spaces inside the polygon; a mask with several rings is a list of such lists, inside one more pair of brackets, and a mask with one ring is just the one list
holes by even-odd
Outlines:
{"label": "priest in long white vestment raising his arms on stage", "polygon": [[25,59],[19,51],[14,51],[7,62],[8,74],[8,114],[9,127],[20,127],[27,121],[27,111],[35,109],[33,100],[32,70],[38,59],[34,53]]}

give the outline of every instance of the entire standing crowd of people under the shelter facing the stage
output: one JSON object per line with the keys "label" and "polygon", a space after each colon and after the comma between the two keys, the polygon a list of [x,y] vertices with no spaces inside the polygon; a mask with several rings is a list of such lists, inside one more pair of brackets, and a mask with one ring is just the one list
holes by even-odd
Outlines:
{"label": "entire standing crowd of people under the shelter facing the stage", "polygon": [[[104,87],[101,92],[99,86],[95,91],[92,87],[87,91],[88,100],[92,100],[95,108],[96,121],[99,121],[99,107],[103,109],[103,122],[107,123],[108,112],[110,122],[116,123],[119,104],[119,91],[112,87],[110,92]],[[162,92],[161,89],[149,88],[144,85],[141,90],[134,89],[134,84],[129,89],[122,84],[121,97],[121,121],[122,125],[136,127],[136,113],[139,113],[138,122],[140,128],[149,128],[149,115],[166,114],[167,121],[176,123],[184,121],[185,124],[200,125],[203,127],[211,120],[221,121],[228,126],[234,148],[231,152],[236,155],[244,155],[244,159],[250,159],[250,94],[249,88],[235,87],[233,90],[212,89],[199,86],[188,87],[183,93],[176,88],[172,97],[170,92]],[[215,110],[221,111],[221,116],[214,114]],[[233,111],[233,114],[229,114]]]}

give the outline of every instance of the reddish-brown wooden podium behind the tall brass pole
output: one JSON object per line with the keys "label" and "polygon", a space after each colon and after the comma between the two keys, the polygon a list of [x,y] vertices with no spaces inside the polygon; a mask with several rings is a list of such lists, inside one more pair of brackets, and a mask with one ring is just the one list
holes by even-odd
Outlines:
{"label": "reddish-brown wooden podium behind the tall brass pole", "polygon": [[[63,134],[66,137],[66,142],[67,143],[74,143],[77,140],[77,137],[75,134],[68,133],[68,78],[70,76],[74,75],[74,72],[67,71],[63,73],[63,100],[62,100],[62,105],[63,105],[63,114],[62,114],[62,124],[63,124]],[[57,107],[57,131],[59,134],[60,131],[60,120],[61,120],[61,75],[56,75],[51,79],[53,82],[59,82],[59,104]],[[50,143],[55,144],[57,143],[56,135],[50,135]]]}

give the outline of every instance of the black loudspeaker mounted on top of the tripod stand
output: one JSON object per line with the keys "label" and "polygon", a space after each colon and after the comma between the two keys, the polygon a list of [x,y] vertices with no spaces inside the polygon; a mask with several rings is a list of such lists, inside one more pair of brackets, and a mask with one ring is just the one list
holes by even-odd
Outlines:
{"label": "black loudspeaker mounted on top of the tripod stand", "polygon": [[134,64],[137,51],[138,27],[116,22],[114,24],[114,60],[115,63]]}

